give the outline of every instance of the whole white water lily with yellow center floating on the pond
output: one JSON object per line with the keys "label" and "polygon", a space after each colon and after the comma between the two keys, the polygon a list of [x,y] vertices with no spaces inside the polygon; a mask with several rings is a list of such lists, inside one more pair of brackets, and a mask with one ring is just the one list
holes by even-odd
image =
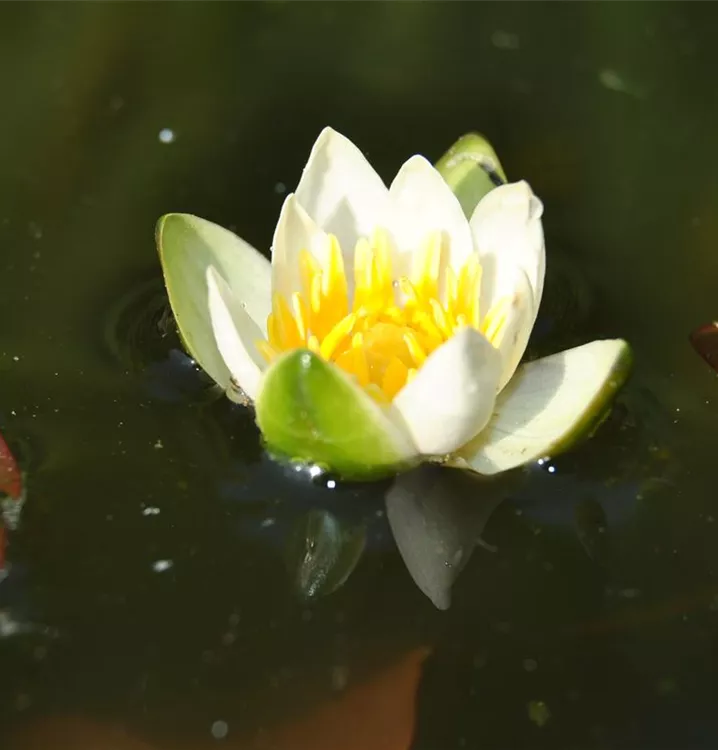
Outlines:
{"label": "whole white water lily with yellow center floating on the pond", "polygon": [[189,352],[254,403],[270,450],[346,477],[423,460],[494,474],[555,454],[603,413],[629,349],[594,341],[519,367],[543,291],[543,206],[525,181],[484,192],[462,204],[418,155],[387,188],[326,128],[271,263],[204,219],[160,219]]}

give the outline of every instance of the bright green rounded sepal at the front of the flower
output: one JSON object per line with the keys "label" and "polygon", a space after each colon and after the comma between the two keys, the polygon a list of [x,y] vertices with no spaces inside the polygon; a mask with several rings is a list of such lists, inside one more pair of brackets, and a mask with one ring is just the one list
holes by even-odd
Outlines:
{"label": "bright green rounded sepal at the front of the flower", "polygon": [[395,474],[416,457],[386,410],[306,349],[288,352],[265,372],[256,410],[270,451],[319,464],[345,479]]}

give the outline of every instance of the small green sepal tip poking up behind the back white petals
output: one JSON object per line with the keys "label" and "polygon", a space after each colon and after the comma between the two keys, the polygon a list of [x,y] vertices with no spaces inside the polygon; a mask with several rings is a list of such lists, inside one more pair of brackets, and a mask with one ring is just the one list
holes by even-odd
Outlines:
{"label": "small green sepal tip poking up behind the back white petals", "polygon": [[467,133],[439,159],[436,168],[459,199],[467,218],[478,202],[506,174],[491,144],[478,133]]}

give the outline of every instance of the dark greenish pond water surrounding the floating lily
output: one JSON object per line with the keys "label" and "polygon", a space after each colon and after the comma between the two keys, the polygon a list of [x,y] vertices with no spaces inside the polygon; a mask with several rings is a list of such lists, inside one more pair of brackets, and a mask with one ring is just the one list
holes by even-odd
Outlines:
{"label": "dark greenish pond water surrounding the floating lily", "polygon": [[[0,19],[0,430],[27,485],[0,746],[715,747],[718,382],[688,334],[718,314],[718,10],[127,0]],[[394,488],[405,531],[439,513],[470,551],[486,523],[445,610],[392,541],[390,486],[272,466],[251,415],[172,353],[156,219],[267,248],[327,124],[387,179],[486,133],[546,205],[533,353],[634,347],[596,436],[500,504],[431,472]],[[361,559],[301,597],[301,528],[335,521],[366,526]]]}

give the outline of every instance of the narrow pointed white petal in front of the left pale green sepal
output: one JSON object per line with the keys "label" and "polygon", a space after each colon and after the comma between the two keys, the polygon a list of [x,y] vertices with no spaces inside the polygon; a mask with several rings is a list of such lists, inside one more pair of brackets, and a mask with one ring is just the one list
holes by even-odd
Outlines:
{"label": "narrow pointed white petal in front of the left pale green sepal", "polygon": [[[217,349],[235,383],[254,399],[266,366],[255,346],[257,340],[264,338],[262,332],[213,266],[207,269],[207,291]],[[228,393],[232,395],[231,388]]]}

